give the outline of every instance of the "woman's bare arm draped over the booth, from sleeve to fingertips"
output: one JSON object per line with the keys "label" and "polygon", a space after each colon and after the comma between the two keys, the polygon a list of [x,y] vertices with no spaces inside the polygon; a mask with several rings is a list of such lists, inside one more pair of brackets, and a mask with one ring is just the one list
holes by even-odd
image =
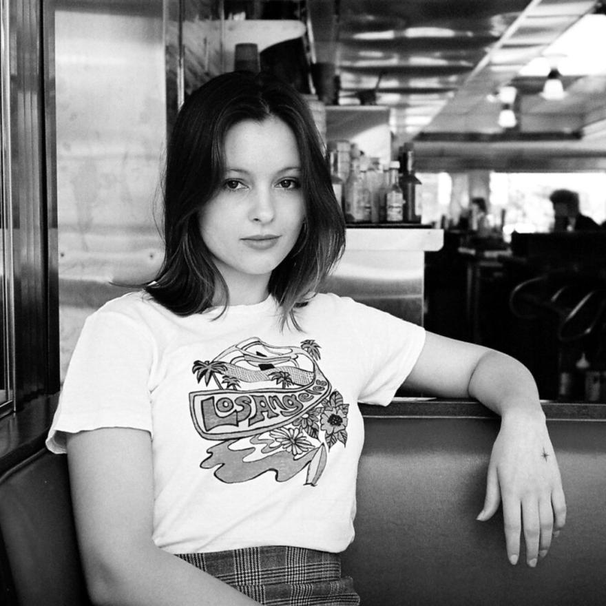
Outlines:
{"label": "woman's bare arm draped over the booth, from sleeve to fingertips", "polygon": [[502,501],[510,562],[518,561],[523,530],[527,564],[536,566],[565,524],[566,504],[530,371],[503,353],[427,333],[406,385],[441,397],[472,397],[501,415],[477,519],[488,520]]}

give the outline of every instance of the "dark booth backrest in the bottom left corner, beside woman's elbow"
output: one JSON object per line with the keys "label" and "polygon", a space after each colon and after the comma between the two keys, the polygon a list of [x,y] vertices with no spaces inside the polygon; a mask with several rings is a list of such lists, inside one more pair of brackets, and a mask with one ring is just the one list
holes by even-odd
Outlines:
{"label": "dark booth backrest in the bottom left corner, beside woman's elbow", "polygon": [[0,603],[89,606],[67,459],[42,449],[0,478]]}

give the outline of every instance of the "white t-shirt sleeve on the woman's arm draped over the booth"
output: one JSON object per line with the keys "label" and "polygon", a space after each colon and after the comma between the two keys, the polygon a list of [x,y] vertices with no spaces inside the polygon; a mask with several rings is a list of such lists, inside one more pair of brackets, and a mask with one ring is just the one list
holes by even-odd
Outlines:
{"label": "white t-shirt sleeve on the woman's arm draped over the booth", "polygon": [[425,329],[379,309],[351,301],[352,331],[366,382],[359,401],[387,406],[415,366]]}

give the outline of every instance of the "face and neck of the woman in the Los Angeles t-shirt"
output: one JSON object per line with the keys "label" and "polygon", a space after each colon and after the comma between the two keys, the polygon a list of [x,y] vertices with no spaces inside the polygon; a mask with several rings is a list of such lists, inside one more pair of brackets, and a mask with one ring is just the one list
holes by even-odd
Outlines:
{"label": "face and neck of the woman in the Los Angeles t-shirt", "polygon": [[291,129],[273,116],[240,122],[224,140],[220,189],[200,211],[200,233],[231,304],[267,297],[271,272],[302,228],[301,163]]}

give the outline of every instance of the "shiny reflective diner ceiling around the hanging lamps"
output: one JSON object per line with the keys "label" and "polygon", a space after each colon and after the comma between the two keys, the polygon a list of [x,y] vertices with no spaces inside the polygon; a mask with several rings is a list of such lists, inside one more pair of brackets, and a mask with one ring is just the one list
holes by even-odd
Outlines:
{"label": "shiny reflective diner ceiling around the hanging lamps", "polygon": [[[606,153],[606,59],[589,61],[603,50],[574,39],[558,48],[583,17],[603,41],[600,2],[308,0],[308,10],[315,61],[335,63],[339,105],[388,105],[401,142],[524,140]],[[550,67],[563,74],[558,101],[541,96]],[[506,84],[517,90],[510,129],[498,123]]]}

